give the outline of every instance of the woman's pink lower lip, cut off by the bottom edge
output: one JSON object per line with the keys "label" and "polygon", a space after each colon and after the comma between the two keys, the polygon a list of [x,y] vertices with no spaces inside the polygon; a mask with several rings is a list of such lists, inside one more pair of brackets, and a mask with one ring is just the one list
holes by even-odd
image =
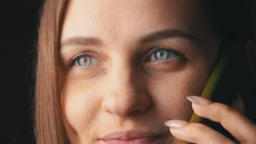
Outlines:
{"label": "woman's pink lower lip, cut off by the bottom edge", "polygon": [[143,137],[143,138],[137,138],[133,140],[111,139],[111,140],[102,140],[102,141],[105,144],[154,144],[158,138],[159,137]]}

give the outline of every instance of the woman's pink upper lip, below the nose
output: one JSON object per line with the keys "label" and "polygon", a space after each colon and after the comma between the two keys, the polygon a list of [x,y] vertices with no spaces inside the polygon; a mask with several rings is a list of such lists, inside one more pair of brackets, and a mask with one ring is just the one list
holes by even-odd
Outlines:
{"label": "woman's pink upper lip, below the nose", "polygon": [[100,140],[121,140],[121,141],[131,141],[139,138],[146,137],[159,137],[161,135],[154,132],[146,131],[114,131],[100,138]]}

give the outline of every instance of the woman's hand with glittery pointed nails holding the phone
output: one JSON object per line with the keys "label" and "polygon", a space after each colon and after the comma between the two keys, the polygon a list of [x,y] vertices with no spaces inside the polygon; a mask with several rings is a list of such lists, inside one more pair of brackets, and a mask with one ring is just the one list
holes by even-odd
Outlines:
{"label": "woman's hand with glittery pointed nails holding the phone", "polygon": [[[198,96],[188,96],[187,99],[192,102],[192,108],[197,115],[219,122],[241,144],[256,144],[256,125],[241,112]],[[229,138],[203,124],[181,120],[166,121],[165,124],[170,127],[174,137],[183,141],[196,144],[235,144]]]}

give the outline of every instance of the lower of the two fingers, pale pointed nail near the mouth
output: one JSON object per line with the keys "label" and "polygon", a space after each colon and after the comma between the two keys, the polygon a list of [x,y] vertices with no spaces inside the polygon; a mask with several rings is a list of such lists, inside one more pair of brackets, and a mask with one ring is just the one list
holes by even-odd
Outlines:
{"label": "lower of the two fingers, pale pointed nail near the mouth", "polygon": [[235,144],[217,131],[203,124],[172,120],[166,124],[174,137],[196,144]]}

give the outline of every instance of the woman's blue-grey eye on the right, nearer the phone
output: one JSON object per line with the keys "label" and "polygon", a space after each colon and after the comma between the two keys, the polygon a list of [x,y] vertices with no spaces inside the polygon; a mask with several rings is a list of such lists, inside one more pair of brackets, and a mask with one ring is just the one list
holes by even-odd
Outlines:
{"label": "woman's blue-grey eye on the right, nearer the phone", "polygon": [[159,50],[156,50],[153,52],[153,54],[149,57],[149,60],[167,60],[167,59],[172,59],[175,57],[178,57],[179,54],[174,51],[170,51],[167,49],[160,48]]}

